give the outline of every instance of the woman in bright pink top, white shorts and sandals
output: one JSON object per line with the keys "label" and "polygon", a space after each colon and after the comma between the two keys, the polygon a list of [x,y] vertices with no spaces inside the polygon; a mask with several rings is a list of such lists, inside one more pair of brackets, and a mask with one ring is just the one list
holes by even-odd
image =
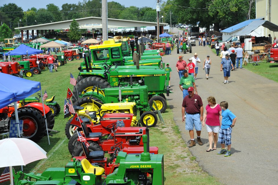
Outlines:
{"label": "woman in bright pink top, white shorts and sandals", "polygon": [[[218,132],[220,130],[221,126],[221,107],[218,105],[215,101],[215,98],[213,96],[209,96],[207,98],[208,105],[206,106],[206,110],[204,113],[204,118],[202,121],[202,126],[205,126],[205,120],[206,120],[206,129],[209,133],[209,149],[207,149],[207,152],[216,150],[216,144],[218,139]],[[214,142],[214,146],[212,147],[212,143]]]}

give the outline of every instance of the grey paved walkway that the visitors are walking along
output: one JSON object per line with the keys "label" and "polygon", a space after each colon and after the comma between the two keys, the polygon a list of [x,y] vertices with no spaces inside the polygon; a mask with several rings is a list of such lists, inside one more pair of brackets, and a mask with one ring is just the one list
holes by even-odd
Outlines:
{"label": "grey paved walkway that the visitors are walking along", "polygon": [[[184,60],[188,62],[187,58],[192,57],[195,52],[201,59],[195,84],[204,109],[208,96],[214,96],[218,104],[225,100],[229,104],[228,109],[237,116],[237,122],[232,132],[232,156],[217,155],[220,144],[217,144],[216,151],[206,152],[209,147],[206,127],[202,128],[201,134],[203,146],[197,144],[190,151],[204,171],[219,178],[224,184],[277,184],[278,83],[243,68],[231,71],[229,84],[224,84],[223,72],[220,72],[220,57],[213,54],[210,47],[198,44],[192,47],[192,53],[177,54],[177,50],[173,50],[171,55],[162,58],[172,68],[170,90],[174,93],[167,99],[184,142],[189,144],[190,137],[189,132],[185,131],[185,123],[182,122],[182,91],[175,64],[179,55],[184,56]],[[207,54],[212,60],[208,80],[202,69]],[[196,139],[196,132],[194,136]]]}

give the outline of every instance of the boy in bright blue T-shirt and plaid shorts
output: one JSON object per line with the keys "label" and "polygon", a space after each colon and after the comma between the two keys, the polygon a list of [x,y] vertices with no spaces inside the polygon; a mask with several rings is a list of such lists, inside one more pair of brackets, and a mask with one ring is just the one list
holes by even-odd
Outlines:
{"label": "boy in bright blue T-shirt and plaid shorts", "polygon": [[[217,153],[218,155],[226,154],[225,157],[232,155],[231,153],[231,134],[232,128],[235,126],[237,117],[228,109],[228,102],[220,102],[222,109],[222,120],[220,120],[221,129],[219,131],[218,143],[221,144],[221,150]],[[225,149],[225,144],[228,150]]]}

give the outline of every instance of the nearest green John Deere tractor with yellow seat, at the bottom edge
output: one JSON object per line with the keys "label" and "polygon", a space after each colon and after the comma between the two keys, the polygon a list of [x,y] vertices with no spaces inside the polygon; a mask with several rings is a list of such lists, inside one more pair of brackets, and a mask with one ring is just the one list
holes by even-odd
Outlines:
{"label": "nearest green John Deere tractor with yellow seat, at the bottom edge", "polygon": [[[93,166],[87,159],[81,161],[73,158],[63,168],[48,168],[43,173],[35,175],[34,173],[17,173],[13,170],[15,185],[163,185],[164,184],[164,158],[163,154],[150,155],[147,147],[147,135],[143,135],[144,152],[141,154],[128,154],[120,151],[118,155],[113,155],[111,162],[115,160],[118,168],[111,171],[111,174],[102,179],[105,175],[105,169],[99,166]],[[99,154],[98,151],[92,154]],[[102,157],[102,155],[93,155]],[[23,179],[20,180],[21,175]]]}

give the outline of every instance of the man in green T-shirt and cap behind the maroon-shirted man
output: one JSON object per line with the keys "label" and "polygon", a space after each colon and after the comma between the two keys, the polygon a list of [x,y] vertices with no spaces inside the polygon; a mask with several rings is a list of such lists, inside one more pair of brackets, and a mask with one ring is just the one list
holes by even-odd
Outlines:
{"label": "man in green T-shirt and cap behind the maroon-shirted man", "polygon": [[183,99],[185,96],[188,95],[187,89],[189,87],[194,87],[195,92],[196,92],[195,94],[198,94],[194,77],[192,75],[188,75],[188,72],[186,69],[182,72],[182,74],[183,74],[183,76],[182,76],[182,78],[180,78],[180,90],[182,90]]}

